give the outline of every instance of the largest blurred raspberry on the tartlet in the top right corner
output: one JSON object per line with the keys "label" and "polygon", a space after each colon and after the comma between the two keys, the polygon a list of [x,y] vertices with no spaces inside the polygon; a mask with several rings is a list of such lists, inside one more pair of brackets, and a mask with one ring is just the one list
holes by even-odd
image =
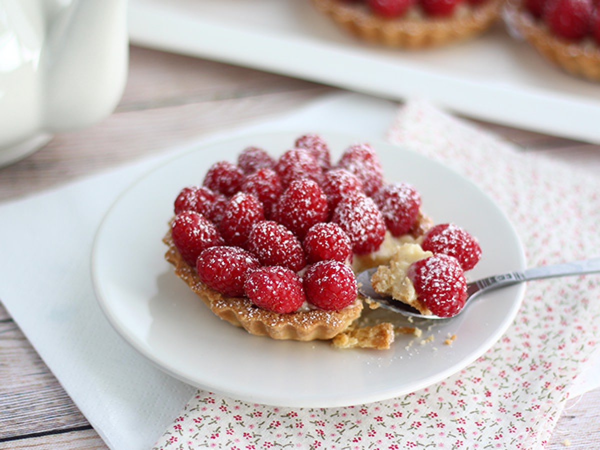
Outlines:
{"label": "largest blurred raspberry on the tartlet in the top right corner", "polygon": [[592,8],[592,0],[550,0],[544,10],[544,22],[554,35],[578,41],[590,29]]}

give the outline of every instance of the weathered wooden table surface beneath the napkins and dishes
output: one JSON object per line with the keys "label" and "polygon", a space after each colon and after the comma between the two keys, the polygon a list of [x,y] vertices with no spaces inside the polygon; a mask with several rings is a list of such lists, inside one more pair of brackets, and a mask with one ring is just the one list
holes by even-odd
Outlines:
{"label": "weathered wooden table surface beneath the napkins and dishes", "polygon": [[[56,136],[0,169],[0,202],[159,154],[193,137],[301,107],[329,86],[131,47],[121,103],[94,127]],[[478,122],[524,151],[600,173],[600,146]],[[548,448],[600,448],[600,389],[569,400]],[[157,430],[157,434],[162,430]],[[0,303],[0,449],[105,449]]]}

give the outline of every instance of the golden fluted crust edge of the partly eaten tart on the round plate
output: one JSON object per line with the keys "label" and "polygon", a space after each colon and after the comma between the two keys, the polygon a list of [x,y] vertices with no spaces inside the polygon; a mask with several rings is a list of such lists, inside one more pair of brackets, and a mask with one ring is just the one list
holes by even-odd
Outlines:
{"label": "golden fluted crust edge of the partly eaten tart on the round plate", "polygon": [[163,238],[169,247],[165,259],[175,267],[175,274],[198,295],[211,311],[250,334],[273,339],[312,341],[331,339],[345,331],[362,312],[362,298],[340,311],[309,310],[279,314],[256,307],[247,298],[231,298],[200,281],[196,270],[186,263],[175,248],[170,232]]}

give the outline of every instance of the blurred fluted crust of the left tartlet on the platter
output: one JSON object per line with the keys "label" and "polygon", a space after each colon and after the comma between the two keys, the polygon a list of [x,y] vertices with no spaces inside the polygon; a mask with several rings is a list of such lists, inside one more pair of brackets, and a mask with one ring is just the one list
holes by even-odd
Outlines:
{"label": "blurred fluted crust of the left tartlet on the platter", "polygon": [[313,0],[316,7],[356,37],[389,47],[422,49],[466,40],[480,34],[496,22],[503,0],[488,0],[472,7],[468,14],[448,18],[384,19],[364,5],[340,0]]}

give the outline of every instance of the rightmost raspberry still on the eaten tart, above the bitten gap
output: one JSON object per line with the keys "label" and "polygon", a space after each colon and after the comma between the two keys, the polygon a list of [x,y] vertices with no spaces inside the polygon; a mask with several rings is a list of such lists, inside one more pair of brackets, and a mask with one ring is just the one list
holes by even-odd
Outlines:
{"label": "rightmost raspberry still on the eaten tart, above the bitten gap", "polygon": [[405,235],[419,216],[421,196],[406,183],[390,184],[373,197],[392,236]]}

